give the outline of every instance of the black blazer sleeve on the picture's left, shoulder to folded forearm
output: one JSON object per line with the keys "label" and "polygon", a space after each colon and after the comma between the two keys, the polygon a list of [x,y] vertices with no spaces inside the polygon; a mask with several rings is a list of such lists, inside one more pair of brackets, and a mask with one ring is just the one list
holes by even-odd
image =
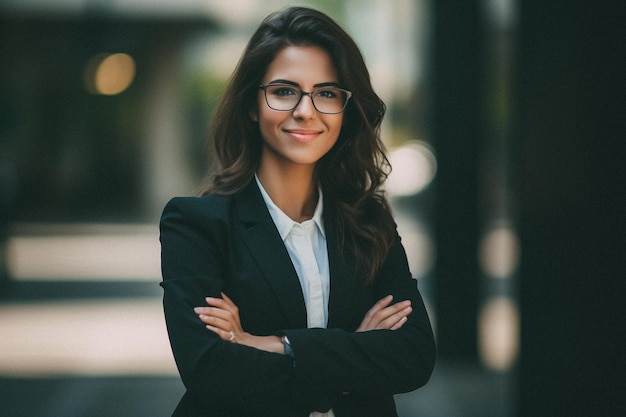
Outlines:
{"label": "black blazer sleeve on the picture's left, shoulder to folded forearm", "polygon": [[193,311],[206,304],[206,296],[219,296],[223,287],[228,210],[225,197],[176,198],[161,217],[163,306],[186,397],[206,415],[254,415],[263,410],[276,416],[307,416],[291,397],[294,369],[288,357],[222,341]]}

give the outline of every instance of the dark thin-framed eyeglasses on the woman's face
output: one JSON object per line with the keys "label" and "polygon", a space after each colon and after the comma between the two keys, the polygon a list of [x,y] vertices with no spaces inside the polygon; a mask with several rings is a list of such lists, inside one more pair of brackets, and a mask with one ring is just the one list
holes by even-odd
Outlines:
{"label": "dark thin-framed eyeglasses on the woman's face", "polygon": [[272,110],[291,111],[298,107],[303,96],[311,97],[313,107],[320,113],[337,114],[344,111],[352,92],[339,87],[319,87],[308,92],[290,84],[264,84],[265,102]]}

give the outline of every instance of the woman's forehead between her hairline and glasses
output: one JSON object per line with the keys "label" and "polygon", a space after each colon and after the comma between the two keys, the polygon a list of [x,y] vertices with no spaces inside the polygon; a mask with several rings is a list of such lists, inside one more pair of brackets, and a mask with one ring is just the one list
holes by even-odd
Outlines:
{"label": "woman's forehead between her hairline and glasses", "polygon": [[278,52],[268,66],[263,83],[288,80],[301,87],[338,82],[330,55],[319,46],[287,46]]}

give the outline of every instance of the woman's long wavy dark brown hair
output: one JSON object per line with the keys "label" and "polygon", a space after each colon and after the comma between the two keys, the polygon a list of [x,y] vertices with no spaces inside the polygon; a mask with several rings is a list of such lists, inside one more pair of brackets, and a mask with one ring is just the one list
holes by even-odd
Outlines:
{"label": "woman's long wavy dark brown hair", "polygon": [[359,48],[327,15],[288,8],[268,16],[252,35],[214,116],[215,173],[203,194],[233,194],[254,177],[263,141],[250,114],[268,66],[290,45],[326,50],[340,85],[352,91],[337,143],[318,161],[315,173],[325,209],[338,219],[341,242],[355,253],[359,273],[372,282],[395,239],[395,225],[381,190],[390,170],[380,139],[385,104],[372,89]]}

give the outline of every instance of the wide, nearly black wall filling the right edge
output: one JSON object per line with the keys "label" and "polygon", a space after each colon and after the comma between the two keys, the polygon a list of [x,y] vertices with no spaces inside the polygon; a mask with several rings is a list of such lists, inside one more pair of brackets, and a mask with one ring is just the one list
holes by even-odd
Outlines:
{"label": "wide, nearly black wall filling the right edge", "polygon": [[626,415],[624,7],[609,3],[520,1],[520,416]]}

